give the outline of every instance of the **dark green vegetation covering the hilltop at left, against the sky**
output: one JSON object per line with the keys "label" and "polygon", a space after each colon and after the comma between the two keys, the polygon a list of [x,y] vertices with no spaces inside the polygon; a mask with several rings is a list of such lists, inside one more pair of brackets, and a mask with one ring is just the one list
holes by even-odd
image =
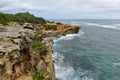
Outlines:
{"label": "dark green vegetation covering the hilltop at left, against the sky", "polygon": [[17,14],[0,13],[0,24],[7,25],[9,22],[27,22],[35,24],[45,24],[46,20],[41,17],[35,17],[29,12]]}

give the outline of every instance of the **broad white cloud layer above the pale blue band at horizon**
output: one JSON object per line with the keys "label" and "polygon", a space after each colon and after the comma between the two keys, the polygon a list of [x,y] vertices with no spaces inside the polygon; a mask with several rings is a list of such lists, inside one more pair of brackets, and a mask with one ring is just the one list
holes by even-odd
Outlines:
{"label": "broad white cloud layer above the pale blue band at horizon", "polygon": [[[3,0],[1,12],[40,12],[56,15],[120,13],[120,0]],[[47,15],[46,15],[47,16]]]}

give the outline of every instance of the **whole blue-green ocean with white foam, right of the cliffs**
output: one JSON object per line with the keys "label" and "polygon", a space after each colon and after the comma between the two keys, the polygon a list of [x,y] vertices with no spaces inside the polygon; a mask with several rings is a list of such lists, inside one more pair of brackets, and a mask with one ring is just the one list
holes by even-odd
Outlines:
{"label": "whole blue-green ocean with white foam, right of the cliffs", "polygon": [[56,20],[81,26],[54,39],[57,80],[120,80],[120,20]]}

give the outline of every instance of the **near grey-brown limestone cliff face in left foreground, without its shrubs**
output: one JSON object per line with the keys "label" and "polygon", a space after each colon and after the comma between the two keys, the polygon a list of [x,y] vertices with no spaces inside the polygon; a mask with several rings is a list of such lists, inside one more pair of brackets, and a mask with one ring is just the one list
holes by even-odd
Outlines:
{"label": "near grey-brown limestone cliff face in left foreground, without its shrubs", "polygon": [[53,41],[44,41],[44,48],[32,47],[34,39],[40,39],[39,27],[1,27],[0,30],[0,80],[33,80],[39,71],[49,72],[46,80],[56,79]]}

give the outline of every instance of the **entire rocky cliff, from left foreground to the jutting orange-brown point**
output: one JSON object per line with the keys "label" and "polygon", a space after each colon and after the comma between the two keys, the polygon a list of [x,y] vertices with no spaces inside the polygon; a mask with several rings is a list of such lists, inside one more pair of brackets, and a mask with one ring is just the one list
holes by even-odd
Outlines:
{"label": "entire rocky cliff, from left foreground to the jutting orange-brown point", "polygon": [[76,33],[79,27],[49,25],[55,28],[30,23],[0,26],[0,80],[35,80],[38,73],[39,80],[56,80],[53,41],[42,38]]}

